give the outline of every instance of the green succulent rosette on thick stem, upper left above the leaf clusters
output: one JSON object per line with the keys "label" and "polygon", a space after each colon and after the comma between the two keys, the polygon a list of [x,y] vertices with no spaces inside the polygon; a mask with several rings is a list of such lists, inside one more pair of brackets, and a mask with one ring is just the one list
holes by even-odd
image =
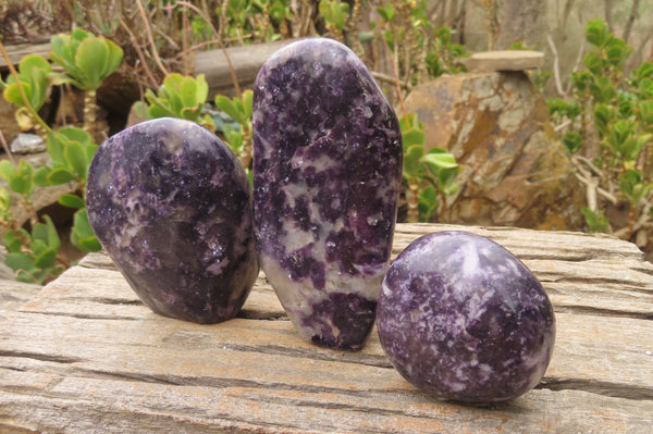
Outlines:
{"label": "green succulent rosette on thick stem, upper left above the leaf clusters", "polygon": [[123,50],[112,40],[95,36],[82,28],[70,35],[58,35],[50,41],[50,59],[64,73],[50,74],[56,84],[70,83],[85,91],[84,129],[94,134],[96,123],[96,90],[123,59]]}

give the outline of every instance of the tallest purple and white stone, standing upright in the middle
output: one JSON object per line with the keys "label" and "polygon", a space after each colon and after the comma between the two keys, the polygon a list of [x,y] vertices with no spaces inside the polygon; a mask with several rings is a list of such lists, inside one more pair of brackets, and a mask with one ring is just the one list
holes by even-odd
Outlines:
{"label": "tallest purple and white stone, standing upright in the middle", "polygon": [[387,270],[402,182],[394,111],[344,45],[311,38],[263,65],[254,90],[261,268],[299,334],[359,349]]}

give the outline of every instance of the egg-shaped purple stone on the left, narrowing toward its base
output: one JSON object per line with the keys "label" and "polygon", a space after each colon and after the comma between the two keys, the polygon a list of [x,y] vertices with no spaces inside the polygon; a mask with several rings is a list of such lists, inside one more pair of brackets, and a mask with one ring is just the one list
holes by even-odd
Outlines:
{"label": "egg-shaped purple stone on the left, narrowing toward its base", "polygon": [[155,312],[235,317],[258,275],[249,182],[214,134],[157,119],[104,141],[89,170],[88,220]]}

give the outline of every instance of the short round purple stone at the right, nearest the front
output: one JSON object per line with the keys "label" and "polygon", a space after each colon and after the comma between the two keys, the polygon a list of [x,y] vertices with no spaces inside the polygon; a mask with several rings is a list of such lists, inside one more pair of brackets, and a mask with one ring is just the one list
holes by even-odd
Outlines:
{"label": "short round purple stone at the right, nearest the front", "polygon": [[415,386],[439,398],[515,398],[544,375],[553,307],[532,272],[479,235],[418,238],[390,268],[379,298],[381,345]]}

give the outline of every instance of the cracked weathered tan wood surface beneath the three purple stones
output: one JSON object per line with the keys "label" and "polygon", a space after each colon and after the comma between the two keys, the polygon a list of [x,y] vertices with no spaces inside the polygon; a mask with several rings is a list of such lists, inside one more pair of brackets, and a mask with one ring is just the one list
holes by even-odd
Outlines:
{"label": "cracked weathered tan wood surface beneath the three purple stones", "polygon": [[375,331],[360,352],[301,340],[261,274],[237,319],[197,325],[144,307],[89,255],[0,319],[2,433],[650,433],[653,265],[602,235],[397,225],[396,256],[461,228],[507,247],[556,310],[553,360],[504,404],[434,400],[392,368]]}

